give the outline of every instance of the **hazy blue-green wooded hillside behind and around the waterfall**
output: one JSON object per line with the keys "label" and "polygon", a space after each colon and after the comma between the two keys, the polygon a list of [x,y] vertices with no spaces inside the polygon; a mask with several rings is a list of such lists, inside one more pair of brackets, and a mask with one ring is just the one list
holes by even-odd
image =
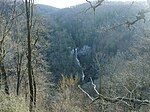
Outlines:
{"label": "hazy blue-green wooded hillside behind and around the waterfall", "polygon": [[94,60],[97,53],[105,54],[107,58],[124,53],[127,60],[133,60],[135,56],[129,53],[129,48],[138,38],[137,35],[142,34],[141,27],[146,24],[141,20],[128,27],[126,22],[133,21],[145,5],[106,2],[94,12],[86,11],[89,6],[83,4],[53,13],[53,21],[49,22],[55,24],[49,32],[51,45],[47,51],[51,72],[59,76],[81,74],[71,50],[78,48],[80,52],[85,46],[91,50],[87,54],[79,53],[79,60],[87,78],[96,77],[98,71]]}

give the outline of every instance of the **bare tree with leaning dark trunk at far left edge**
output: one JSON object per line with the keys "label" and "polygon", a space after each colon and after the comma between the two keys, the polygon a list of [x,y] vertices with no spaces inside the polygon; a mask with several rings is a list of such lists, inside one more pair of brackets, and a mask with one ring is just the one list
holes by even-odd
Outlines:
{"label": "bare tree with leaning dark trunk at far left edge", "polygon": [[16,0],[14,0],[12,6],[9,6],[7,1],[2,2],[2,5],[3,6],[1,7],[2,9],[0,12],[0,21],[1,21],[0,69],[1,69],[1,78],[4,82],[5,93],[9,94],[8,77],[5,70],[4,58],[7,55],[9,49],[6,48],[6,46],[9,44],[9,43],[6,44],[6,39],[10,37],[10,32],[15,19],[14,12],[16,10]]}

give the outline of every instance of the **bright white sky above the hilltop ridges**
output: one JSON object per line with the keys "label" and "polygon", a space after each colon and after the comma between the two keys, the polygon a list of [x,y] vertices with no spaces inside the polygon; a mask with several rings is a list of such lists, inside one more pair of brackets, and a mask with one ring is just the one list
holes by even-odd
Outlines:
{"label": "bright white sky above the hilltop ridges", "polygon": [[[107,0],[108,1],[108,0]],[[146,1],[146,0],[109,0],[109,1]],[[70,7],[77,4],[85,3],[86,0],[35,0],[36,4],[45,4],[57,8]]]}

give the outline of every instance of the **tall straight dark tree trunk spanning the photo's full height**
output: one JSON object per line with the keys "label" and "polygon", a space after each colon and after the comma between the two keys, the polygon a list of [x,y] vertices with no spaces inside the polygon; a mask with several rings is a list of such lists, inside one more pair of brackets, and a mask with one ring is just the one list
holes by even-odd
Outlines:
{"label": "tall straight dark tree trunk spanning the photo's full height", "polygon": [[34,90],[33,90],[33,77],[32,77],[32,56],[31,56],[31,29],[32,29],[32,17],[33,17],[33,0],[25,0],[26,9],[26,27],[27,27],[27,60],[28,60],[28,80],[29,80],[29,94],[30,104],[29,111],[33,112],[34,107]]}

